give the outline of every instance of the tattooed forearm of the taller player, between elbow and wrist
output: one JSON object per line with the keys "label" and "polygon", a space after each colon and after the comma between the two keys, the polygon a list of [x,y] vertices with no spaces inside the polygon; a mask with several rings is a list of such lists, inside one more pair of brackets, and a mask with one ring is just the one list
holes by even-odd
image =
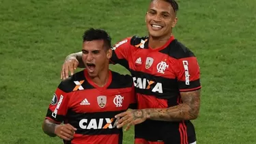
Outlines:
{"label": "tattooed forearm of the taller player, between elbow and wrist", "polygon": [[198,112],[188,104],[178,104],[167,109],[143,109],[147,119],[158,121],[182,121],[196,119]]}

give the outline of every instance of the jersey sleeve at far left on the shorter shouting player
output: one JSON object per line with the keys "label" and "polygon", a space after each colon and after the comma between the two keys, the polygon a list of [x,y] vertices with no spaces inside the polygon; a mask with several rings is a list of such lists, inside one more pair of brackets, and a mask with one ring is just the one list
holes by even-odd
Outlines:
{"label": "jersey sleeve at far left on the shorter shouting player", "polygon": [[62,91],[59,87],[56,89],[51,104],[48,107],[46,119],[51,119],[56,124],[63,122],[68,111],[68,96],[69,93]]}

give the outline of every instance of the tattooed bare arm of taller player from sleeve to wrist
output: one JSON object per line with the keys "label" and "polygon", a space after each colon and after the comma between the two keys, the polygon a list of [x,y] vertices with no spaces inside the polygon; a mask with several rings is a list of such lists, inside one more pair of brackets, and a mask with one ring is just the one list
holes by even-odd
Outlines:
{"label": "tattooed bare arm of taller player from sleeve to wrist", "polygon": [[181,121],[197,119],[200,107],[200,89],[181,93],[182,103],[167,109],[143,109],[148,119]]}

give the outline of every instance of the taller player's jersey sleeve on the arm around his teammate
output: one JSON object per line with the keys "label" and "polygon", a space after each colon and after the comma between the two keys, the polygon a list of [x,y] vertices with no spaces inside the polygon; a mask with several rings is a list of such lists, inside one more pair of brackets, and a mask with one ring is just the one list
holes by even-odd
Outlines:
{"label": "taller player's jersey sleeve on the arm around his teammate", "polygon": [[126,38],[113,46],[113,55],[110,59],[111,63],[118,63],[128,68],[128,61],[131,55],[130,40],[131,38]]}

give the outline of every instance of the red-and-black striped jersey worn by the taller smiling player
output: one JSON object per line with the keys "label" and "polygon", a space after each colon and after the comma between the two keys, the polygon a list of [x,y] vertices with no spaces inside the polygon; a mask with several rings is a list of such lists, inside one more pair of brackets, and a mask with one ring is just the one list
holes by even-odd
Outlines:
{"label": "red-and-black striped jersey worn by the taller smiling player", "polygon": [[[137,93],[138,109],[159,109],[182,102],[181,91],[201,89],[197,58],[173,36],[161,48],[150,48],[147,37],[126,38],[113,47],[112,63],[130,70]],[[193,143],[195,128],[190,121],[146,120],[135,126],[135,139]]]}

